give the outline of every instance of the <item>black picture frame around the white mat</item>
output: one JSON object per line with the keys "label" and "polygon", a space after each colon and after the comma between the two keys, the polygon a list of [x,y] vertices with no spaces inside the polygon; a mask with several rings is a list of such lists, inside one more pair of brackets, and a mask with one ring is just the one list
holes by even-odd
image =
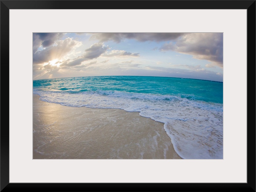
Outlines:
{"label": "black picture frame around the white mat", "polygon": [[136,6],[131,1],[1,0],[2,103],[9,103],[10,96],[10,9],[116,9],[113,4],[118,9],[247,10],[247,183],[9,183],[9,108],[2,106],[0,191],[255,191],[255,0],[136,1]]}

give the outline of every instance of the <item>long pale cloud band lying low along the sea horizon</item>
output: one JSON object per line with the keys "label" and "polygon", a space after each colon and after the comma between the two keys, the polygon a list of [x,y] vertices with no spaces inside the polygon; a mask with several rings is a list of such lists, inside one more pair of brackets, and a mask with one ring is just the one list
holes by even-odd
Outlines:
{"label": "long pale cloud band lying low along the sea horizon", "polygon": [[[34,65],[35,67],[38,65]],[[179,68],[165,68],[165,67],[138,67],[139,64],[91,64],[91,65],[77,65],[75,67],[56,68],[46,70],[38,70],[34,73],[33,79],[45,78],[61,78],[61,77],[79,77],[79,76],[104,76],[104,75],[132,75],[132,76],[161,76],[161,77],[178,77],[178,78],[192,78],[205,79],[210,81],[223,82],[223,75],[213,71],[192,71]],[[58,71],[57,71],[58,70]],[[55,71],[55,73],[53,73]],[[53,74],[52,76],[49,76]]]}

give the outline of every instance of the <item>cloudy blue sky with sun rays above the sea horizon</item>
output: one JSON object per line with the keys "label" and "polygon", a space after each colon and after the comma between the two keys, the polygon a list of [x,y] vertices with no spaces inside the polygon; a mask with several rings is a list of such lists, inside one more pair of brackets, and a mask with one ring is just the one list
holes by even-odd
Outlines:
{"label": "cloudy blue sky with sun rays above the sea horizon", "polygon": [[223,82],[223,33],[33,33],[33,80],[113,75]]}

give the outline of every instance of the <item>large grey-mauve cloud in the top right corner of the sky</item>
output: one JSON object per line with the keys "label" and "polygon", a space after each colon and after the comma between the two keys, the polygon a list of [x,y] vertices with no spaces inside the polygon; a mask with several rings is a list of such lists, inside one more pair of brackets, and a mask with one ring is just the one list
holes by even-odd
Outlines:
{"label": "large grey-mauve cloud in the top right corner of the sky", "polygon": [[195,59],[209,60],[213,65],[223,67],[223,33],[185,34],[176,43],[164,44],[160,50],[189,54]]}

